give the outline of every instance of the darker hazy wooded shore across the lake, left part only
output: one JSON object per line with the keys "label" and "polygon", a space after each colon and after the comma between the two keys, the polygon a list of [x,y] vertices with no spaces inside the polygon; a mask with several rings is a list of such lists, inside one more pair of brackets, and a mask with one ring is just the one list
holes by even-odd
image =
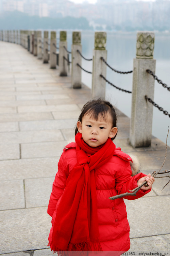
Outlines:
{"label": "darker hazy wooded shore across the lake, left part only", "polygon": [[24,30],[24,29],[79,29],[91,30],[88,20],[84,17],[50,18],[30,16],[18,11],[3,12],[0,15],[0,29]]}

